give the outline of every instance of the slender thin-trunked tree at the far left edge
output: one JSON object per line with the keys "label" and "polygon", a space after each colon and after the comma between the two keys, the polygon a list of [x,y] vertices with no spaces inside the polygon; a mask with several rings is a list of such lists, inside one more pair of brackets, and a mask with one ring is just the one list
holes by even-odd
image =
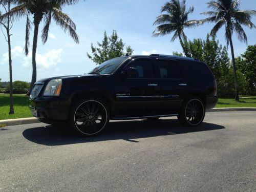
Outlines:
{"label": "slender thin-trunked tree at the far left edge", "polygon": [[10,34],[10,30],[12,28],[12,20],[13,20],[13,18],[10,15],[11,3],[12,3],[11,0],[0,0],[0,5],[2,5],[4,10],[6,11],[6,13],[3,14],[3,15],[0,11],[0,25],[2,25],[6,29],[6,34],[7,34],[6,41],[8,42],[9,75],[10,75],[10,109],[9,109],[9,114],[14,114],[13,88],[12,88],[11,34]]}

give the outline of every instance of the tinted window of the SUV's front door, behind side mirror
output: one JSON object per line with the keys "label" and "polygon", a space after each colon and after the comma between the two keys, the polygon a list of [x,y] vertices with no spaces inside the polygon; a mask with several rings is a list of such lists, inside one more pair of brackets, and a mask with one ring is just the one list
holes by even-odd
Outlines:
{"label": "tinted window of the SUV's front door, behind side mirror", "polygon": [[154,78],[153,62],[151,59],[136,59],[127,67],[136,68],[138,71],[138,76],[130,76],[129,78]]}

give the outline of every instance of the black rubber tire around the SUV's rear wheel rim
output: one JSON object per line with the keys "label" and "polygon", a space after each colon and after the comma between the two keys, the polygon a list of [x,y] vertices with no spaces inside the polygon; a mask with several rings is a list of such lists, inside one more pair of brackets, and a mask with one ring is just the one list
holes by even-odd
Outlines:
{"label": "black rubber tire around the SUV's rear wheel rim", "polygon": [[[198,124],[196,124],[196,125],[190,124],[190,123],[187,121],[186,117],[185,117],[185,109],[186,109],[186,106],[187,106],[187,104],[188,104],[189,101],[194,100],[194,99],[199,100],[199,101],[202,103],[203,108],[204,108],[204,113],[203,113],[202,120],[201,120]],[[183,103],[182,103],[182,108],[181,108],[181,110],[180,110],[180,112],[179,112],[179,115],[177,116],[178,120],[179,120],[182,124],[188,125],[188,126],[191,126],[191,127],[199,126],[199,125],[203,122],[204,117],[205,117],[205,104],[204,104],[204,102],[203,102],[200,98],[198,98],[198,97],[188,97],[188,98],[186,98],[186,99],[183,101]]]}

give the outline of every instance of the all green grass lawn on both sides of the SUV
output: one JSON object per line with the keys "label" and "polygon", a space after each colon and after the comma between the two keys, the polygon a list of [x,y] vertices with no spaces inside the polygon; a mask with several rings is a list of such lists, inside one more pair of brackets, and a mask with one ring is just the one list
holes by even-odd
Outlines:
{"label": "all green grass lawn on both sides of the SUV", "polygon": [[[241,98],[242,97],[242,98]],[[246,97],[246,98],[243,98]],[[0,94],[0,120],[32,117],[28,108],[28,97],[14,94],[14,115],[9,115],[9,94]],[[240,96],[240,102],[234,99],[219,99],[217,108],[256,108],[256,96]]]}

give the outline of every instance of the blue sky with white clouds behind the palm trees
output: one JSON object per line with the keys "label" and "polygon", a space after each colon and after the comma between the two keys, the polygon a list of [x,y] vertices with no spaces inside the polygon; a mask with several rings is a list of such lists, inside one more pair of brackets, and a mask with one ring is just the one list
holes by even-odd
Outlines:
{"label": "blue sky with white clouds behind the palm trees", "polygon": [[[188,19],[203,19],[205,15],[200,13],[207,11],[206,3],[209,0],[186,0],[186,7],[194,6],[195,10],[189,14]],[[153,26],[155,18],[161,14],[160,7],[166,0],[87,0],[80,1],[73,6],[66,6],[63,12],[67,13],[77,27],[80,44],[76,44],[68,33],[62,31],[52,21],[50,25],[49,38],[42,45],[40,34],[37,45],[37,80],[41,78],[78,75],[91,71],[96,64],[87,57],[91,53],[91,42],[96,45],[97,41],[103,39],[106,31],[111,35],[113,29],[125,42],[125,46],[131,46],[134,54],[168,54],[174,51],[182,52],[179,39],[171,42],[172,34],[163,37],[152,37],[156,28]],[[256,10],[255,0],[241,0],[240,9]],[[32,20],[32,17],[31,17]],[[256,16],[252,17],[256,25]],[[207,33],[214,24],[204,24],[196,28],[185,29],[188,39],[205,39]],[[25,18],[13,24],[11,30],[12,66],[13,80],[30,82],[32,77],[32,47],[28,57],[24,54],[25,45]],[[40,30],[42,23],[40,24]],[[33,26],[32,26],[33,28]],[[4,31],[4,28],[2,27]],[[244,27],[248,37],[248,45],[256,44],[256,29]],[[226,45],[224,28],[217,34],[222,45]],[[33,31],[30,35],[32,45]],[[240,42],[233,35],[233,46],[235,56],[245,52],[247,45]],[[229,56],[231,55],[228,50]],[[0,31],[0,78],[9,81],[8,44]]]}

